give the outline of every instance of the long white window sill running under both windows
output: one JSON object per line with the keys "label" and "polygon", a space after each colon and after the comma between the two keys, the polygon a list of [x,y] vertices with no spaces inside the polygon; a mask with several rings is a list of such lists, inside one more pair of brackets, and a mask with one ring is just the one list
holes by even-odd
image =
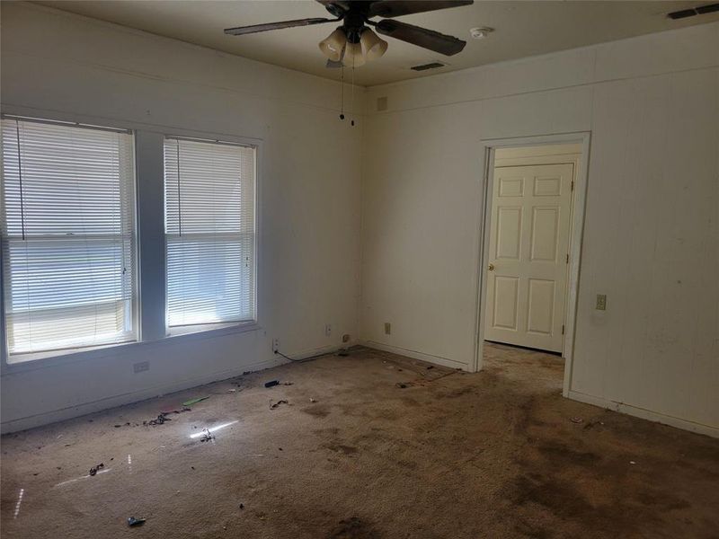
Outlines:
{"label": "long white window sill running under both windows", "polygon": [[211,339],[233,333],[256,331],[258,329],[260,329],[260,324],[255,321],[182,326],[172,328],[163,339],[159,340],[132,340],[82,349],[50,350],[47,352],[16,354],[13,355],[10,361],[8,359],[11,358],[4,358],[2,362],[2,374],[4,376],[45,367],[58,367],[69,363],[118,356],[120,354],[131,354],[133,351],[136,351],[138,347],[164,346],[182,340]]}

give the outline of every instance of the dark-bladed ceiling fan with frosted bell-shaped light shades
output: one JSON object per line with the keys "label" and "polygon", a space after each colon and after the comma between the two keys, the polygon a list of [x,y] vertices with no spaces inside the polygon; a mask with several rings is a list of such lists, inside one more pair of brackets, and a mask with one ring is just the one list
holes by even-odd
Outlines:
{"label": "dark-bladed ceiling fan with frosted bell-shaped light shades", "polygon": [[[242,36],[260,31],[280,30],[294,26],[310,26],[325,22],[342,22],[327,38],[320,41],[320,50],[328,58],[328,66],[359,67],[367,60],[381,57],[387,42],[377,36],[368,26],[395,40],[405,41],[430,49],[445,56],[457,54],[465,48],[466,41],[458,40],[439,31],[427,30],[406,22],[393,21],[394,17],[424,13],[474,4],[474,0],[317,0],[335,19],[313,18],[296,21],[269,22],[227,28],[226,34]],[[382,17],[381,21],[372,21]]]}

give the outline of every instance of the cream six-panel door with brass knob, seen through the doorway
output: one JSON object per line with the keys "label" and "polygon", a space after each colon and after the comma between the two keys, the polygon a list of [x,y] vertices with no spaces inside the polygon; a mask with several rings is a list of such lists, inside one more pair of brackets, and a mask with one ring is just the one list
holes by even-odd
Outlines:
{"label": "cream six-panel door with brass knob, seen through the doorway", "polygon": [[494,169],[484,339],[561,352],[573,165]]}

